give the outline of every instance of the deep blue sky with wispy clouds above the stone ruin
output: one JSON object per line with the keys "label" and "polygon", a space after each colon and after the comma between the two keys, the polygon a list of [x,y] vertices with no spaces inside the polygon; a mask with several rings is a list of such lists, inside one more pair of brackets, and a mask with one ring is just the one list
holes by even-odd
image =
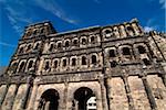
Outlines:
{"label": "deep blue sky with wispy clouds above the stone ruin", "polygon": [[0,66],[7,66],[24,26],[49,20],[58,32],[137,18],[146,30],[166,32],[166,0],[0,0]]}

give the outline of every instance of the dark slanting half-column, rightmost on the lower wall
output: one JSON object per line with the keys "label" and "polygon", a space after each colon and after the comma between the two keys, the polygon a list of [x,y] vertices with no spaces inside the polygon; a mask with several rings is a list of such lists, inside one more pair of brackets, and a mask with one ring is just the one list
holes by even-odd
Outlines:
{"label": "dark slanting half-column, rightmost on the lower wall", "polygon": [[147,98],[148,98],[148,100],[149,100],[152,110],[157,110],[157,105],[156,105],[156,102],[155,102],[155,98],[154,98],[154,96],[153,96],[153,92],[152,92],[152,90],[151,90],[151,87],[149,87],[149,85],[148,85],[148,82],[147,82],[146,77],[142,77],[142,80],[143,80],[143,84],[144,84],[144,87],[145,87],[145,90],[146,90]]}

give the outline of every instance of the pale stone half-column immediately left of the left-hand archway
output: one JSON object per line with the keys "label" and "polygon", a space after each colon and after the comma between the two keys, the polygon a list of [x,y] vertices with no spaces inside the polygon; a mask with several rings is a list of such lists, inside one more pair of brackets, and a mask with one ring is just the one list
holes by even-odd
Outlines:
{"label": "pale stone half-column immediately left of the left-hand archway", "polygon": [[33,84],[32,96],[30,97],[28,110],[33,110],[37,94],[38,94],[38,84]]}

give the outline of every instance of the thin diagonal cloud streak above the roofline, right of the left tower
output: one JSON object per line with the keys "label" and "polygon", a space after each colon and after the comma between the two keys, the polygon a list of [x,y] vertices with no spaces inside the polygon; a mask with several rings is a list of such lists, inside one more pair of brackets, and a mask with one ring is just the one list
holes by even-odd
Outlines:
{"label": "thin diagonal cloud streak above the roofline, right of the left tower", "polygon": [[54,14],[55,16],[62,19],[63,21],[72,24],[76,24],[76,20],[70,19],[69,15],[62,10],[62,8],[53,0],[35,0],[37,6],[41,7],[42,9],[49,11],[50,13]]}

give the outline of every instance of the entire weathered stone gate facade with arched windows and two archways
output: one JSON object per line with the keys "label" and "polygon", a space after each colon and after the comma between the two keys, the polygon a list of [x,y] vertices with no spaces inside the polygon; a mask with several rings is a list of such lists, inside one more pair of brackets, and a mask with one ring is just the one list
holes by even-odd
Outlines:
{"label": "entire weathered stone gate facade with arched windows and two archways", "polygon": [[31,24],[0,76],[0,109],[166,110],[165,36],[136,19],[64,33]]}

